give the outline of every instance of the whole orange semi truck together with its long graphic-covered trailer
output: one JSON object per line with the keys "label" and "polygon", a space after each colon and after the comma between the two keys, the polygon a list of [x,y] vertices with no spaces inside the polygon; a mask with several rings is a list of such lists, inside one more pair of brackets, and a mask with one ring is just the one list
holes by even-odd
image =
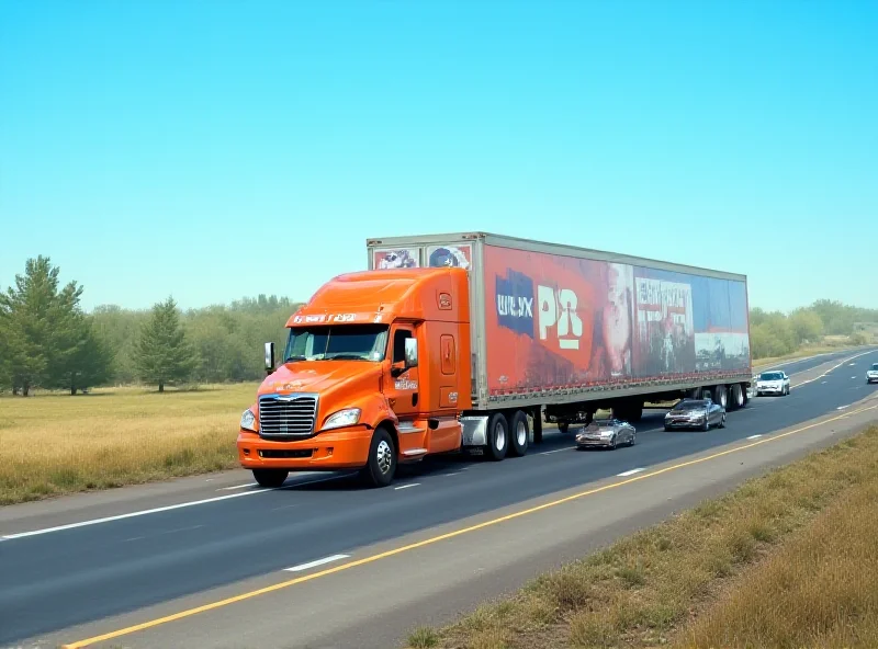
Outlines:
{"label": "whole orange semi truck together with its long graphic-covered trailer", "polygon": [[747,402],[744,275],[484,232],[367,241],[368,270],[293,314],[241,415],[241,466],[359,469],[468,451],[502,460],[598,409],[709,395]]}

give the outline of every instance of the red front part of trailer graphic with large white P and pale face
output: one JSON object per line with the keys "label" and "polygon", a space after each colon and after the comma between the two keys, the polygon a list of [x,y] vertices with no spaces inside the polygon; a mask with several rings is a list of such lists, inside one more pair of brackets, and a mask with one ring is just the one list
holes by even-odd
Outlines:
{"label": "red front part of trailer graphic with large white P and pale face", "polygon": [[485,247],[488,391],[631,376],[633,269]]}

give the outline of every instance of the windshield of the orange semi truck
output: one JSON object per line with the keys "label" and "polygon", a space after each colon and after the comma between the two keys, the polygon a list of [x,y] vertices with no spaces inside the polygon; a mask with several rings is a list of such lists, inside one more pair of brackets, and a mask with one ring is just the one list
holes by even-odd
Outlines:
{"label": "windshield of the orange semi truck", "polygon": [[284,362],[384,360],[387,327],[344,324],[337,327],[294,327],[290,329]]}

